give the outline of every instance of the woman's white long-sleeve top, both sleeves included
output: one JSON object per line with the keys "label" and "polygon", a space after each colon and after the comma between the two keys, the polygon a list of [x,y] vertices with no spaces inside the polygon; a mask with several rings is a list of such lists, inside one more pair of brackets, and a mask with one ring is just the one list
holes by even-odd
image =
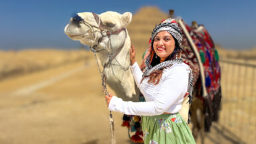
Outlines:
{"label": "woman's white long-sleeve top, both sleeves included", "polygon": [[148,83],[149,78],[144,78],[140,83],[143,73],[137,62],[131,66],[131,70],[146,102],[124,102],[121,98],[113,96],[108,109],[127,115],[160,115],[164,112],[177,113],[180,111],[184,95],[188,91],[190,70],[187,64],[174,64],[164,69],[162,78],[157,85]]}

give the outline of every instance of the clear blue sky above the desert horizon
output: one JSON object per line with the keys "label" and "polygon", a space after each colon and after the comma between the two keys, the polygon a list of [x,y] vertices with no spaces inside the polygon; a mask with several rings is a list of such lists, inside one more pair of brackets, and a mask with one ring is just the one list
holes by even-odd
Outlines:
{"label": "clear blue sky above the desert horizon", "polygon": [[255,0],[1,0],[0,50],[80,48],[80,42],[64,34],[64,27],[74,13],[134,14],[144,6],[158,7],[164,13],[174,9],[176,16],[186,23],[197,21],[205,25],[213,41],[223,48],[256,47]]}

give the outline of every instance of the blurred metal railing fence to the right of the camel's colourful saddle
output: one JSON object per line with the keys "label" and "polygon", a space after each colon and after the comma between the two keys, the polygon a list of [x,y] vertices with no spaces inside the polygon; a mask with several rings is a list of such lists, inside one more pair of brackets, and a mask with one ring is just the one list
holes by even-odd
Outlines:
{"label": "blurred metal railing fence to the right of the camel's colourful saddle", "polygon": [[256,64],[221,60],[221,133],[231,143],[256,143]]}

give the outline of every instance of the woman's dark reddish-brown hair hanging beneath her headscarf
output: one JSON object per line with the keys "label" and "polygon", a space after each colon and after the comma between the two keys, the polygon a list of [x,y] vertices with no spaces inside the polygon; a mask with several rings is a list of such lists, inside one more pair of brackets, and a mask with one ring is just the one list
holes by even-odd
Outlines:
{"label": "woman's dark reddish-brown hair hanging beneath her headscarf", "polygon": [[[174,38],[175,40],[175,48],[174,48],[174,52],[172,52],[172,54],[170,54],[170,56],[168,56],[166,58],[166,60],[174,60],[176,58],[176,54],[178,54],[178,56],[180,56],[181,52],[182,52],[182,48],[180,48],[180,45],[178,43],[178,41],[176,40],[176,38]],[[151,42],[151,48],[150,48],[150,65],[156,66],[157,64],[160,64],[160,57],[156,56],[156,52],[154,51],[154,47],[153,47],[153,43],[154,43],[154,39]],[[166,61],[164,60],[164,61]],[[160,79],[162,78],[162,74],[164,72],[164,68],[160,69],[160,70],[154,70],[154,72],[152,72],[149,76],[144,76],[144,78],[149,77],[148,83],[152,83],[157,85],[160,82]],[[144,80],[144,78],[142,78],[141,82]]]}

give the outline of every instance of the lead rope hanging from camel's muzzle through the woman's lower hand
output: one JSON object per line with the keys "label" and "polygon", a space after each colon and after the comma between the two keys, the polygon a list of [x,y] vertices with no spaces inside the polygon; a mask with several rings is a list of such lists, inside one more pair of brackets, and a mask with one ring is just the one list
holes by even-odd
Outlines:
{"label": "lead rope hanging from camel's muzzle through the woman's lower hand", "polygon": [[[99,23],[98,23],[98,25],[99,25]],[[94,30],[93,27],[92,27],[92,30]],[[94,41],[95,40],[96,40],[96,36],[94,35]],[[90,48],[92,49],[93,46],[91,45]],[[106,76],[105,76],[104,72],[102,72],[100,70],[100,65],[98,64],[98,58],[96,56],[96,51],[92,50],[92,52],[94,53],[94,57],[96,59],[97,66],[98,66],[98,71],[100,72],[100,75],[101,75],[101,81],[102,81],[102,86],[103,86],[103,90],[102,91],[105,93],[106,96],[109,96],[109,93],[106,90]],[[103,71],[104,71],[104,67],[103,67]],[[109,124],[110,124],[110,133],[111,133],[111,137],[112,137],[111,143],[112,144],[116,144],[116,136],[115,136],[115,133],[114,133],[114,119],[113,119],[111,111],[109,111],[109,119],[108,120],[109,120]]]}

